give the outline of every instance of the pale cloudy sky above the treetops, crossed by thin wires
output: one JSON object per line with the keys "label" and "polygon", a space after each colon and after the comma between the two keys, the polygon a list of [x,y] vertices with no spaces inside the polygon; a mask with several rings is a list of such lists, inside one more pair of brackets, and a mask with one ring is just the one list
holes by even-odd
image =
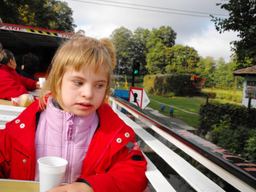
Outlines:
{"label": "pale cloudy sky above the treetops, crossed by thin wires", "polygon": [[138,27],[152,30],[169,26],[177,33],[176,44],[195,48],[203,58],[222,57],[226,62],[233,53],[230,42],[239,39],[233,31],[220,34],[211,21],[210,14],[228,18],[229,13],[216,5],[224,2],[220,0],[62,1],[73,10],[75,31],[82,29],[97,39],[110,37],[120,27],[134,32]]}

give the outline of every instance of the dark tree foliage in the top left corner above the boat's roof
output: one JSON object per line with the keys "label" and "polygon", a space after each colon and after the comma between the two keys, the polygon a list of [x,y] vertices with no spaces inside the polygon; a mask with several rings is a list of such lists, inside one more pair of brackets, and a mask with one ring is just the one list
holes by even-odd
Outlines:
{"label": "dark tree foliage in the top left corner above the boat's roof", "polygon": [[74,32],[73,11],[56,0],[0,0],[4,23]]}

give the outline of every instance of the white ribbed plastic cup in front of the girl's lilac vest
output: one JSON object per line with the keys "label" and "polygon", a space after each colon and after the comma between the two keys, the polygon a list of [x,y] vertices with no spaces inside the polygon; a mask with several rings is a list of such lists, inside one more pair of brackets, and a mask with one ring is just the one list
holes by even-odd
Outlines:
{"label": "white ribbed plastic cup in front of the girl's lilac vest", "polygon": [[61,186],[68,161],[59,157],[42,157],[37,162],[40,192]]}

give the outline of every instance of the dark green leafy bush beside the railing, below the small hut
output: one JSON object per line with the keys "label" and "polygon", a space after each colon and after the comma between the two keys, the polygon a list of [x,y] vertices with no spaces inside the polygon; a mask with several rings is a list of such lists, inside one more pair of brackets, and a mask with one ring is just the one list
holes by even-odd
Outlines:
{"label": "dark green leafy bush beside the railing, below the small hut", "polygon": [[234,104],[202,104],[198,134],[238,156],[256,162],[256,109]]}

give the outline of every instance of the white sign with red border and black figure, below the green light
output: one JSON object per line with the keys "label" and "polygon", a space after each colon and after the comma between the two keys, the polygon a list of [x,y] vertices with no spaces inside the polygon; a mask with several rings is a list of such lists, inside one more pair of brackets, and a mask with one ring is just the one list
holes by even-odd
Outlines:
{"label": "white sign with red border and black figure, below the green light", "polygon": [[137,105],[139,108],[145,109],[150,103],[150,98],[143,88],[130,87],[129,102]]}

